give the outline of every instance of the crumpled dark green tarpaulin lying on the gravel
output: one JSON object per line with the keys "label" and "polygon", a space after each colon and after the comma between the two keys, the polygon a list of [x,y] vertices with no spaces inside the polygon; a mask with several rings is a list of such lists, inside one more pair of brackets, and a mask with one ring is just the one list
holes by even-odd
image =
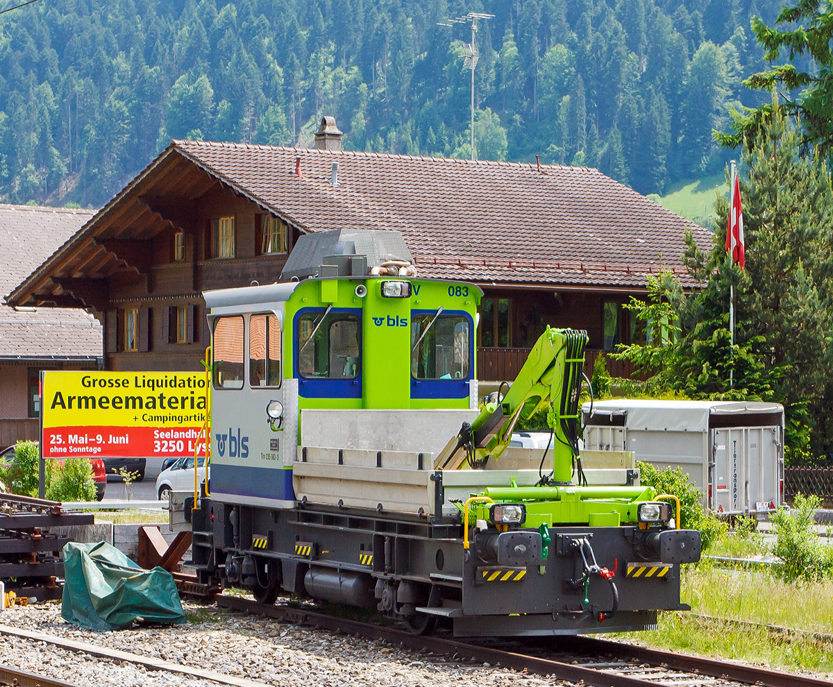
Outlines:
{"label": "crumpled dark green tarpaulin lying on the gravel", "polygon": [[63,547],[61,615],[92,630],[122,630],[137,617],[184,623],[177,585],[162,568],[144,570],[116,547],[100,541]]}

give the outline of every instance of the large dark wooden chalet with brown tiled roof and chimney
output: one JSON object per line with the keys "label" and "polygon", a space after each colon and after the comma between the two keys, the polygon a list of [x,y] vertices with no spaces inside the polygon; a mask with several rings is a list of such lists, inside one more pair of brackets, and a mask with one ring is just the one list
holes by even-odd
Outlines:
{"label": "large dark wooden chalet with brown tiled roof and chimney", "polygon": [[[341,150],[172,141],[12,291],[14,306],[77,307],[102,321],[107,370],[200,370],[203,290],[277,281],[302,233],[402,232],[418,273],[485,297],[481,381],[513,379],[547,324],[593,351],[631,341],[622,303],[711,233],[595,169]],[[627,375],[623,363],[611,371]]]}

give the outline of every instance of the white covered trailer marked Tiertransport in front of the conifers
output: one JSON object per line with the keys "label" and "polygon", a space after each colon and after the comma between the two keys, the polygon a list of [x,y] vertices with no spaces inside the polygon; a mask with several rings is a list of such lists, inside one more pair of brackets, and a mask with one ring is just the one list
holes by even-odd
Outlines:
{"label": "white covered trailer marked Tiertransport in front of the conifers", "polygon": [[784,495],[784,407],[736,401],[596,401],[581,408],[588,451],[633,451],[680,467],[718,515],[766,514]]}

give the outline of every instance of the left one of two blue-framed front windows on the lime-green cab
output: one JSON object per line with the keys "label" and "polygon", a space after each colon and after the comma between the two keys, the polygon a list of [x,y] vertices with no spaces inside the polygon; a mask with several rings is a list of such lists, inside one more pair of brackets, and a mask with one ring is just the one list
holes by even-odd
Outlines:
{"label": "left one of two blue-framed front windows on the lime-green cab", "polygon": [[307,379],[356,379],[361,371],[358,316],[324,311],[304,313],[298,320],[297,361]]}

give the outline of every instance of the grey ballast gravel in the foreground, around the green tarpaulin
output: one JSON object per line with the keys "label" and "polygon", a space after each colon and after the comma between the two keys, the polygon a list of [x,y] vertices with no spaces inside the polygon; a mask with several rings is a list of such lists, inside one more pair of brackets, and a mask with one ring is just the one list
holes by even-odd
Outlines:
{"label": "grey ballast gravel in the foreground, around the green tarpaulin", "polygon": [[[57,603],[16,606],[0,613],[0,625],[41,632],[132,654],[212,670],[281,687],[336,685],[569,685],[540,675],[492,668],[404,649],[351,635],[337,635],[276,620],[231,613],[217,606],[183,602],[185,625],[134,627],[95,632],[70,625]],[[60,677],[79,687],[202,687],[217,683],[127,661],[111,661],[54,645],[0,634],[0,656],[21,670]]]}

